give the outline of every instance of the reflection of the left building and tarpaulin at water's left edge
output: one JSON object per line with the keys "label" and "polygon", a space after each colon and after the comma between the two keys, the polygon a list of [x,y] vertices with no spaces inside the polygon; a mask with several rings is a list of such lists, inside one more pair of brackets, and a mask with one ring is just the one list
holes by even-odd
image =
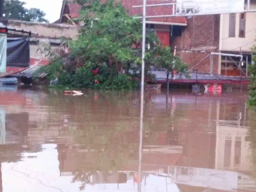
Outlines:
{"label": "reflection of the left building and tarpaulin at water's left edge", "polygon": [[31,145],[28,137],[28,113],[6,113],[0,108],[0,192],[3,191],[2,163],[19,162],[24,152],[41,151],[40,145]]}

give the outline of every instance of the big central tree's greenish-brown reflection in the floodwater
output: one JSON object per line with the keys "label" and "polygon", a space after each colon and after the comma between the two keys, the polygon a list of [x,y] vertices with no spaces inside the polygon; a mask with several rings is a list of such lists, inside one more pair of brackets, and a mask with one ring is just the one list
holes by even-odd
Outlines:
{"label": "big central tree's greenish-brown reflection in the floodwater", "polygon": [[[86,91],[86,97],[76,99],[64,96],[62,92],[56,94],[58,96],[50,95],[47,101],[42,102],[54,107],[54,110],[48,108],[49,116],[65,115],[70,118],[69,124],[74,122],[77,125],[78,130],[65,133],[74,139],[72,142],[77,146],[58,148],[58,152],[60,162],[75,160],[75,167],[69,166],[69,170],[62,167],[68,167],[68,163],[60,163],[60,170],[71,170],[73,182],[81,182],[81,189],[90,184],[90,176],[97,172],[117,172],[138,161],[140,92]],[[158,104],[151,102],[152,96],[154,93],[151,92],[145,96],[144,145],[154,145],[157,139],[162,141],[161,135],[167,135],[173,122],[182,118],[183,110],[186,110],[176,109],[177,118],[171,114],[170,100],[168,110],[156,108]],[[161,105],[165,106],[165,99]],[[75,157],[71,160],[70,156]]]}

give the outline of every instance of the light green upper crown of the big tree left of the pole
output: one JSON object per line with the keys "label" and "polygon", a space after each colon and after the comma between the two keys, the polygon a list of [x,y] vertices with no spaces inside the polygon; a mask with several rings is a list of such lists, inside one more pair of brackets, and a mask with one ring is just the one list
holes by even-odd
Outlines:
{"label": "light green upper crown of the big tree left of the pole", "polygon": [[83,57],[84,61],[96,65],[105,62],[111,75],[113,66],[122,75],[128,64],[140,62],[136,48],[140,45],[141,24],[132,19],[121,4],[114,5],[113,0],[100,4],[96,0],[84,5],[80,15],[84,28],[70,44],[77,58]]}

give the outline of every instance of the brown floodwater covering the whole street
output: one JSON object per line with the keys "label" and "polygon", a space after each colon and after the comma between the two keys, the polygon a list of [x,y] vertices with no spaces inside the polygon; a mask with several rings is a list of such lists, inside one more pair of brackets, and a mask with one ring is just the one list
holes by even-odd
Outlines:
{"label": "brown floodwater covering the whole street", "polygon": [[0,88],[0,191],[256,191],[247,92],[84,93]]}

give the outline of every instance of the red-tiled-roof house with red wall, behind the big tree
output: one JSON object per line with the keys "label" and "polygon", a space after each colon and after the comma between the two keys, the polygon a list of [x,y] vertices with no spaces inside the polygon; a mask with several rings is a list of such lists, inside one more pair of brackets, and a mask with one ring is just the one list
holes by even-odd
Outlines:
{"label": "red-tiled-roof house with red wall, behind the big tree", "polygon": [[[123,6],[127,9],[130,15],[141,15],[142,8],[133,8],[134,5],[141,5],[142,1],[138,0],[119,0]],[[156,3],[173,3],[172,0],[148,0],[147,4]],[[60,23],[68,23],[68,20],[79,17],[79,9],[81,6],[74,2],[62,4]],[[164,7],[148,7],[148,15],[162,15],[172,14],[172,5]],[[185,17],[169,17],[169,18],[152,18],[146,21],[146,27],[148,29],[155,29],[157,36],[159,37],[162,44],[170,46],[170,34],[172,31],[181,31],[182,27],[188,25]],[[73,22],[73,24],[75,24]],[[176,32],[177,33],[177,32]]]}

